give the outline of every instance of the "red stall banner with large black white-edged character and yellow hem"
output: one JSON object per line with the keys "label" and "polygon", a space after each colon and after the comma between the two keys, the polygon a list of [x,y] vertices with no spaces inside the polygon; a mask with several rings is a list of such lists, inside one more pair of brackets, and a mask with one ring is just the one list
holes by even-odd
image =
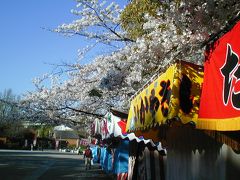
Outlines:
{"label": "red stall banner with large black white-edged character and yellow hem", "polygon": [[197,127],[240,130],[240,22],[217,40],[204,64]]}

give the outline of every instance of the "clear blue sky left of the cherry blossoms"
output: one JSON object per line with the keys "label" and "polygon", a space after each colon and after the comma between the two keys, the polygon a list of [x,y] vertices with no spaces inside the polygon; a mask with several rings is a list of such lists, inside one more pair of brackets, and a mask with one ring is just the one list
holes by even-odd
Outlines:
{"label": "clear blue sky left of the cherry blossoms", "polygon": [[77,60],[77,50],[85,47],[86,40],[42,29],[74,20],[70,10],[75,5],[74,0],[0,1],[0,92],[32,91],[32,79],[51,72],[49,64]]}

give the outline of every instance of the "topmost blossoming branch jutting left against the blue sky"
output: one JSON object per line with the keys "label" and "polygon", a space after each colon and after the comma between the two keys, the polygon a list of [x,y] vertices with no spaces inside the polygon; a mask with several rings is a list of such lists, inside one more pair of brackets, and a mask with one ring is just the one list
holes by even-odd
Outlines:
{"label": "topmost blossoming branch jutting left against the blue sky", "polygon": [[79,17],[69,24],[62,24],[54,31],[67,36],[83,36],[96,42],[114,45],[114,42],[132,42],[120,28],[120,6],[114,1],[77,0],[72,14]]}

